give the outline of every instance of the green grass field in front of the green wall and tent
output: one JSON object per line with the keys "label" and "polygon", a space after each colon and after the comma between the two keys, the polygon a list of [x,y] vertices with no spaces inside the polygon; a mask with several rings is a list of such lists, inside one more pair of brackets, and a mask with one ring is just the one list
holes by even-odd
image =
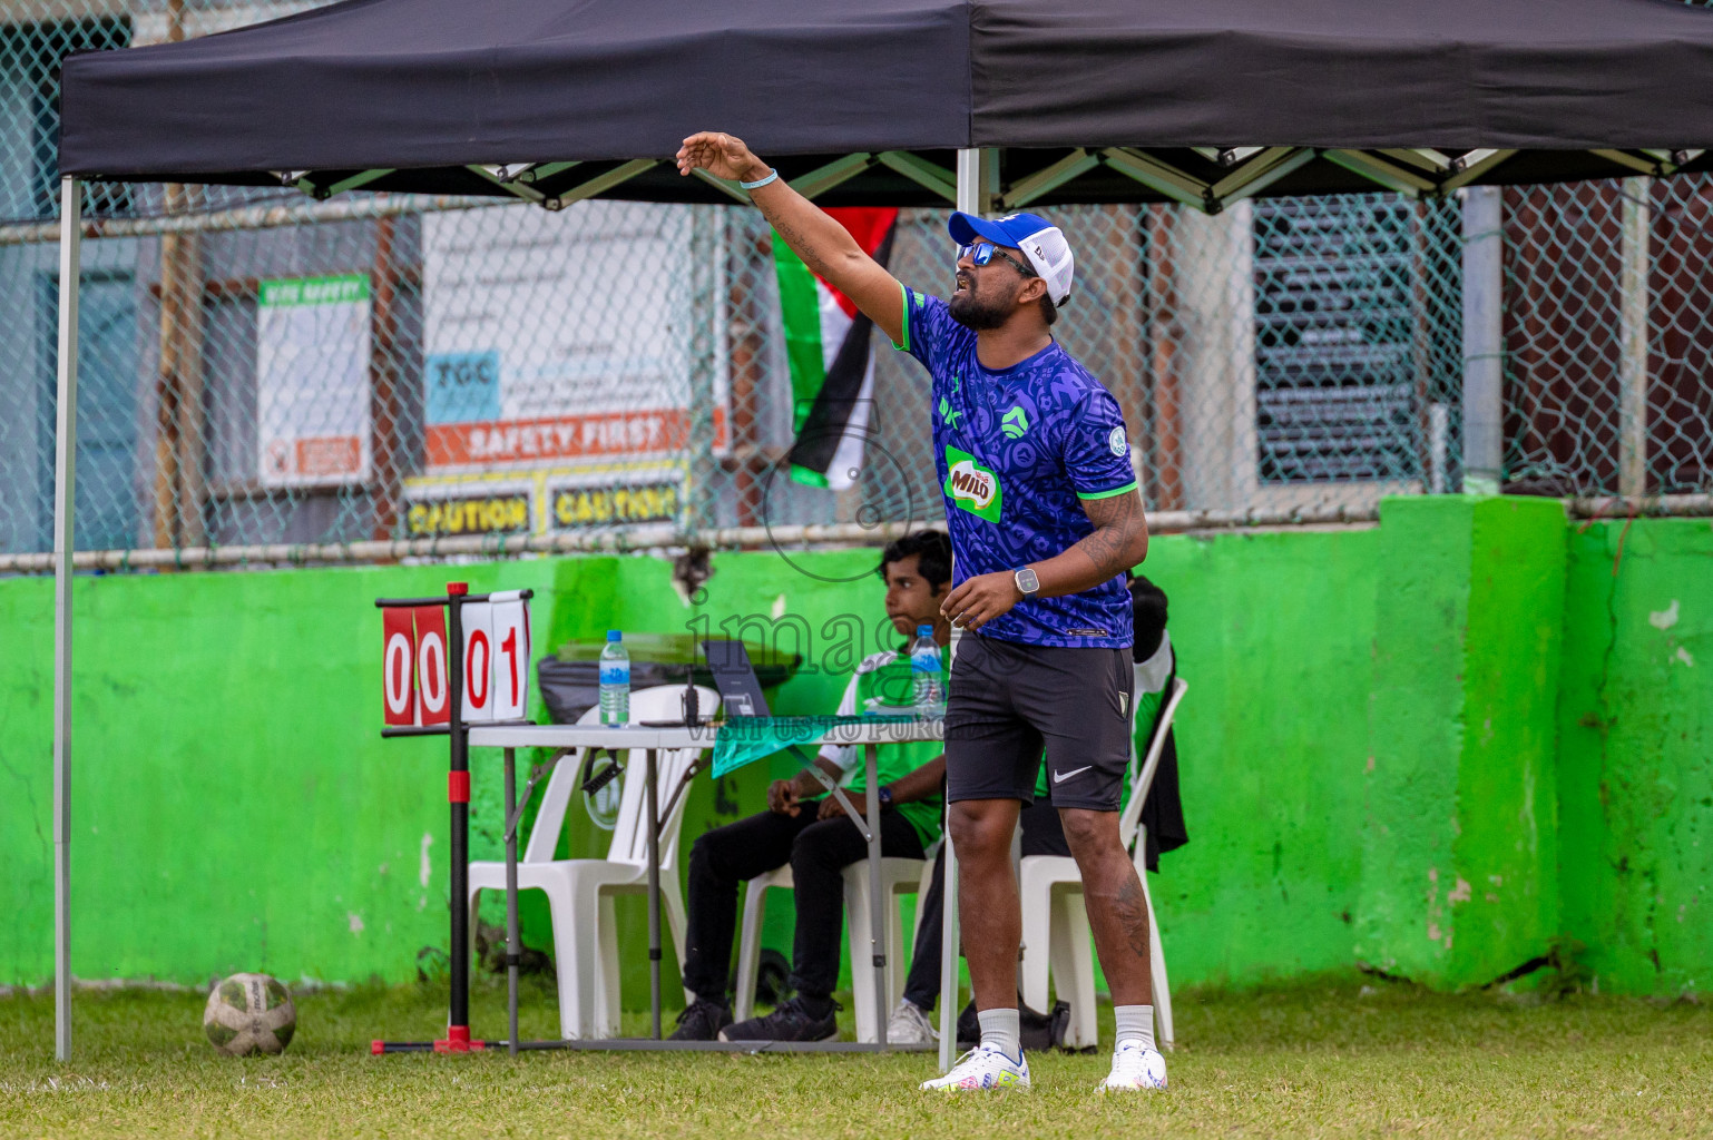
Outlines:
{"label": "green grass field in front of the green wall and tent", "polygon": [[[1031,1054],[1033,1092],[952,1101],[916,1092],[923,1054],[368,1056],[375,1036],[435,1036],[442,1003],[437,986],[303,995],[284,1056],[230,1060],[199,995],[79,993],[77,1060],[58,1065],[51,998],[0,998],[0,1135],[1713,1135],[1713,1008],[1684,1001],[1185,993],[1170,1092],[1105,1101],[1105,1056]],[[478,988],[475,1022],[500,1036],[502,988]],[[553,1025],[531,988],[522,1034]]]}

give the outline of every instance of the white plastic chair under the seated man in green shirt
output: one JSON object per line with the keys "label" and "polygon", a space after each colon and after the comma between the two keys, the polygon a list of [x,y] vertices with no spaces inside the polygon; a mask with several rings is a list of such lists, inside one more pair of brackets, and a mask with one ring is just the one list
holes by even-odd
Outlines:
{"label": "white plastic chair under the seated man in green shirt", "polygon": [[[880,890],[898,900],[903,895],[923,897],[934,875],[932,844],[927,859],[880,859]],[[793,887],[791,864],[774,868],[766,875],[757,875],[743,892],[743,924],[738,938],[738,974],[737,1000],[733,1001],[733,1020],[749,1020],[755,1012],[755,977],[761,972],[761,921],[766,914],[766,895],[773,888]],[[868,861],[858,859],[845,868],[845,928],[850,931],[851,945],[851,1001],[856,1005],[856,1041],[874,1042],[880,1039],[880,1027],[874,1024],[874,965],[868,962],[872,914],[868,907]],[[891,1010],[904,993],[904,916],[901,905],[886,907],[886,1008]]]}

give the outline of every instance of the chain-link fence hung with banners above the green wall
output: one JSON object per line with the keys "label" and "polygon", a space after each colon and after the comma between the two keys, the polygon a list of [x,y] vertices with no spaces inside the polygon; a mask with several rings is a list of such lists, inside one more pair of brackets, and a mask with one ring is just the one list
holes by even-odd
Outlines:
{"label": "chain-link fence hung with banners above the green wall", "polygon": [[[0,14],[10,568],[51,548],[60,58],[303,7]],[[1710,207],[1699,176],[1504,192],[1506,490],[1713,490]],[[718,543],[942,510],[925,373],[879,334],[867,361],[846,346],[863,325],[752,209],[159,185],[89,187],[86,209],[111,236],[84,245],[82,549]],[[1465,490],[1465,366],[1485,349],[1463,329],[1459,200],[1047,212],[1077,252],[1055,334],[1117,395],[1153,512],[1362,517]],[[946,211],[872,214],[853,233],[949,289]]]}

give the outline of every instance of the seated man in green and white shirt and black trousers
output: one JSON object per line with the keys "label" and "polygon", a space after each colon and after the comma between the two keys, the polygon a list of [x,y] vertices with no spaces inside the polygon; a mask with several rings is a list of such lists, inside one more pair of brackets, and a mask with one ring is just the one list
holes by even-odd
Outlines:
{"label": "seated man in green and white shirt and black trousers", "polygon": [[[951,541],[940,531],[922,531],[891,543],[880,553],[886,580],[886,616],[903,637],[918,625],[934,626],[942,647],[951,626],[940,603],[951,587]],[[856,666],[845,688],[841,714],[911,704],[908,642],[901,650],[870,654]],[[942,751],[935,741],[882,745],[875,755],[880,781],[880,854],[922,859],[939,839],[942,820],[940,781],[920,769]],[[862,750],[826,745],[815,758],[829,779],[853,774],[846,793],[862,805],[867,791]],[[701,835],[690,847],[689,929],[685,931],[683,986],[695,995],[678,1017],[675,1041],[831,1041],[838,1036],[833,1018],[838,1005],[833,988],[839,977],[839,948],[845,933],[845,878],[851,863],[868,858],[868,844],[839,803],[819,796],[824,787],[809,770],[774,781],[767,810]],[[726,1005],[731,940],[737,931],[738,883],[791,864],[797,895],[797,931],[791,950],[791,988],[797,996],[766,1017],[731,1024]]]}

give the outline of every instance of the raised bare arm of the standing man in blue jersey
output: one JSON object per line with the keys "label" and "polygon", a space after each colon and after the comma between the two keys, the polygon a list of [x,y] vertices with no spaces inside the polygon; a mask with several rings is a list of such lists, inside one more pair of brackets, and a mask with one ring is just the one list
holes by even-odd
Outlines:
{"label": "raised bare arm of the standing man in blue jersey", "polygon": [[[706,169],[728,181],[761,181],[773,171],[750,154],[742,139],[718,130],[690,135],[678,147],[678,173],[689,175],[692,169]],[[750,192],[750,200],[805,265],[868,313],[880,332],[898,344],[904,330],[904,293],[898,277],[863,253],[845,226],[793,190],[785,178],[757,187]]]}

